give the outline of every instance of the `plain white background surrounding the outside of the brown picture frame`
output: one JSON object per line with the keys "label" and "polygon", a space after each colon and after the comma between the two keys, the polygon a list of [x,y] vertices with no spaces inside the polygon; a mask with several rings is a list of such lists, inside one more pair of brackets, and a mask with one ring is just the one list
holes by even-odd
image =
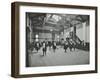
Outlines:
{"label": "plain white background surrounding the outside of the brown picture frame", "polygon": [[[99,73],[97,74],[80,74],[80,75],[64,75],[39,78],[21,78],[15,79],[10,77],[11,68],[11,2],[15,0],[0,0],[0,80],[100,80],[100,54],[98,54]],[[16,0],[30,1],[41,3],[56,4],[76,4],[99,6],[100,0]],[[100,6],[99,13],[100,14]],[[98,16],[100,22],[100,16]],[[98,33],[100,35],[100,23],[98,25]],[[100,36],[98,37],[98,47],[100,48]],[[100,53],[100,49],[98,50]]]}

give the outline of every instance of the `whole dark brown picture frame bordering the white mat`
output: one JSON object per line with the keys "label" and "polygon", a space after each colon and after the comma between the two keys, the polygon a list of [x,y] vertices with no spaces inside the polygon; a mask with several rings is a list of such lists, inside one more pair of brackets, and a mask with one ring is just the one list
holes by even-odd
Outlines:
{"label": "whole dark brown picture frame bordering the white mat", "polygon": [[[71,8],[71,9],[89,9],[95,11],[95,70],[87,71],[73,71],[73,72],[54,72],[54,73],[40,73],[40,74],[20,74],[20,22],[19,7],[23,6],[39,6],[39,7],[53,7],[53,8]],[[86,74],[97,73],[97,7],[96,6],[80,6],[80,5],[61,5],[61,4],[43,4],[43,3],[28,3],[28,2],[14,2],[11,4],[11,76],[15,78],[23,77],[40,77],[40,76],[57,76],[57,75],[72,75],[72,74]]]}

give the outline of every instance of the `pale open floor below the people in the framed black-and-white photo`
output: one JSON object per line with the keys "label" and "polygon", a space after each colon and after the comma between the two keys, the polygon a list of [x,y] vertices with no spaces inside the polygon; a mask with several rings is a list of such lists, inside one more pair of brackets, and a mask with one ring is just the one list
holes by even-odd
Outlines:
{"label": "pale open floor below the people in the framed black-and-white photo", "polygon": [[29,67],[40,66],[60,66],[60,65],[81,65],[89,64],[89,51],[76,49],[70,52],[64,52],[64,49],[59,47],[54,53],[53,50],[47,49],[46,56],[43,56],[42,49],[29,53]]}

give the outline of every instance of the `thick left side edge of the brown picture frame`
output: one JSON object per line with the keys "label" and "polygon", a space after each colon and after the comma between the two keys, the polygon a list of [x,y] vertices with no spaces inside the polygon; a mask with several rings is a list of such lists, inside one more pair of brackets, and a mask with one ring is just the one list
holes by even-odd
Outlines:
{"label": "thick left side edge of the brown picture frame", "polygon": [[[12,77],[16,77],[19,74],[19,61],[18,61],[18,45],[17,43],[17,39],[18,39],[18,33],[16,32],[16,26],[18,26],[19,23],[17,23],[18,21],[18,17],[16,17],[16,4],[12,3],[11,4],[11,76]],[[15,46],[16,45],[16,46]]]}

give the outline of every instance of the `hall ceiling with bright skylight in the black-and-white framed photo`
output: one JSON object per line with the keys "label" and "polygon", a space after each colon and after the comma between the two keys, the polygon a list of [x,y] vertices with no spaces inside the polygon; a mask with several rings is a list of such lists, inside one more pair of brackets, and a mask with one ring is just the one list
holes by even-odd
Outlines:
{"label": "hall ceiling with bright skylight in the black-and-white framed photo", "polygon": [[89,24],[89,15],[27,13],[27,16],[32,21],[34,31],[60,32],[85,21]]}

